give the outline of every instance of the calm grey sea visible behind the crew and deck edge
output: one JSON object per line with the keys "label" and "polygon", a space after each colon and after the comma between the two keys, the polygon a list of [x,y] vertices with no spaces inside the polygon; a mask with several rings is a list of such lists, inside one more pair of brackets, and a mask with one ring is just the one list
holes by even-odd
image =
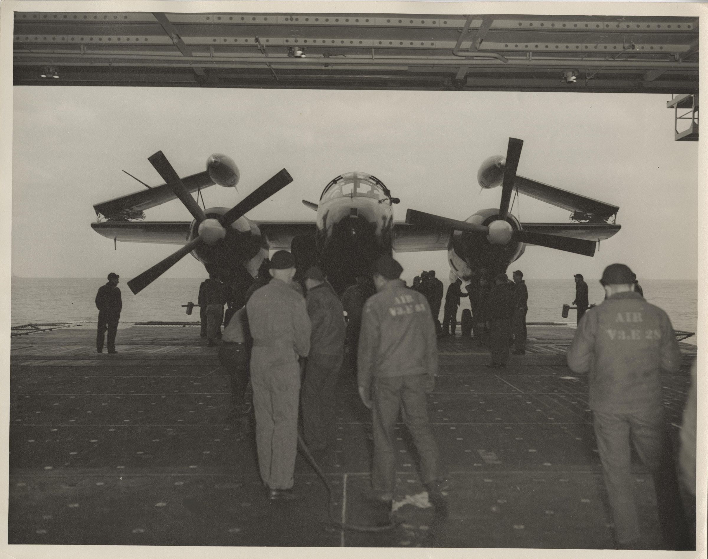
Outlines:
{"label": "calm grey sea visible behind the crew and deck edge", "polygon": [[[404,278],[408,284],[412,278]],[[137,295],[125,284],[122,288],[122,322],[198,321],[198,309],[187,316],[182,305],[196,302],[198,278],[159,278]],[[576,312],[563,318],[564,304],[575,298],[575,283],[569,280],[527,279],[529,310],[526,320],[533,322],[574,323]],[[605,292],[598,280],[586,280],[590,303],[599,304]],[[96,321],[98,311],[94,298],[105,279],[95,277],[13,277],[11,325]],[[443,281],[445,289],[447,282]],[[691,280],[643,280],[641,287],[647,301],[664,309],[675,330],[697,333],[698,283]],[[462,299],[461,309],[469,309]],[[462,311],[458,314],[462,314]],[[442,311],[440,314],[442,320]],[[686,342],[697,344],[697,335]]]}

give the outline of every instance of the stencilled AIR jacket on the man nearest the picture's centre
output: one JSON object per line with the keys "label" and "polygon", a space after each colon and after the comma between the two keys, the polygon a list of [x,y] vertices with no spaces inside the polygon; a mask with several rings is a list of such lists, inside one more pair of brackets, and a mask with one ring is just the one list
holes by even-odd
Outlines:
{"label": "stencilled AIR jacket on the man nearest the picture's centre", "polygon": [[426,297],[388,282],[364,306],[359,338],[359,386],[368,389],[374,376],[438,373],[435,323]]}

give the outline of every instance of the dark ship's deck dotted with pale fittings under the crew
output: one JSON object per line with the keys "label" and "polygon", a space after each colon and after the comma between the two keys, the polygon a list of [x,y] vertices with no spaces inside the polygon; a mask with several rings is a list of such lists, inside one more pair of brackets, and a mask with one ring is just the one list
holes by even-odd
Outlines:
{"label": "dark ship's deck dotted with pale fittings under the crew", "polygon": [[[118,355],[96,353],[91,323],[13,336],[8,543],[611,548],[588,379],[566,366],[574,331],[529,325],[526,355],[506,369],[487,369],[488,350],[470,338],[440,340],[428,410],[449,515],[430,507],[399,423],[400,524],[374,534],[333,524],[300,455],[302,500],[268,500],[253,434],[234,437],[229,377],[196,323],[121,324]],[[678,374],[662,377],[674,442],[697,346],[681,349]],[[336,444],[316,459],[337,519],[367,524],[370,412],[346,368],[337,404]],[[636,456],[633,471],[642,541],[661,549],[651,476]]]}

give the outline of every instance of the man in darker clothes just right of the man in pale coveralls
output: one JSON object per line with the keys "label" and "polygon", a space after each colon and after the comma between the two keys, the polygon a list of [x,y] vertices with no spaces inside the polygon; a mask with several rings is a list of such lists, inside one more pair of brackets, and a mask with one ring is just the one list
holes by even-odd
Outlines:
{"label": "man in darker clothes just right of the man in pale coveralls", "polygon": [[344,309],[319,267],[309,267],[304,282],[312,334],[302,385],[302,432],[310,450],[323,451],[334,442],[335,389],[346,335]]}

